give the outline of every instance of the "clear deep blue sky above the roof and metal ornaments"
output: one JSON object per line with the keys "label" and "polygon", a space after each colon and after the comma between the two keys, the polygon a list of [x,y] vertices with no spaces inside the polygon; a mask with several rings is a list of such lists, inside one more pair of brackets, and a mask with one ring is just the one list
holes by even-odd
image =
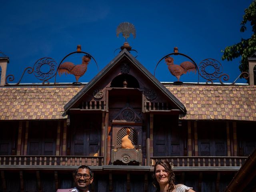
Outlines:
{"label": "clear deep blue sky above the roof and metal ornaments", "polygon": [[[226,46],[241,38],[251,36],[251,28],[240,32],[244,9],[251,0],[194,0],[194,1],[52,1],[52,0],[1,0],[0,50],[9,58],[8,74],[18,82],[26,67],[43,57],[54,58],[59,64],[62,58],[76,51],[91,54],[102,70],[115,56],[125,39],[116,37],[121,22],[130,22],[136,28],[128,42],[138,51],[136,59],[152,74],[157,62],[178,47],[179,52],[190,56],[197,64],[205,58],[214,58],[223,66],[223,73],[233,82],[240,74],[239,59],[222,61]],[[132,53],[132,52],[131,52]],[[81,54],[65,61],[81,63]],[[179,64],[187,59],[174,58]],[[90,81],[99,71],[91,61],[80,82]],[[197,75],[188,73],[183,82],[197,82]],[[156,69],[161,82],[174,82],[176,77],[168,71],[164,61]],[[49,80],[54,82],[54,79]],[[73,75],[58,76],[57,82],[74,82]],[[26,73],[21,83],[40,82],[33,74]],[[206,82],[200,77],[200,82]],[[237,82],[246,82],[239,79]]]}

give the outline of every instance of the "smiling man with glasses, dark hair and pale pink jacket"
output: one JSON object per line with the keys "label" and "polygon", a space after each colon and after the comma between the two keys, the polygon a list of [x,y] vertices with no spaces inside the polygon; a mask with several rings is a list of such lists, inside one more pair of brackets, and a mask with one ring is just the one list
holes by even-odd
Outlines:
{"label": "smiling man with glasses, dark hair and pale pink jacket", "polygon": [[93,182],[92,170],[86,165],[78,167],[74,182],[76,187],[71,189],[58,189],[57,192],[89,192],[89,186]]}

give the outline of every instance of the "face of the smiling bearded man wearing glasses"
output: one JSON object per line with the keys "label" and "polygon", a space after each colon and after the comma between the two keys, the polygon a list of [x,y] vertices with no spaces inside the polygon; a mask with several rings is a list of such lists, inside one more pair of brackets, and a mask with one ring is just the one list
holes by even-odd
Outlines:
{"label": "face of the smiling bearded man wearing glasses", "polygon": [[88,190],[89,185],[92,183],[93,177],[90,177],[88,169],[78,169],[75,176],[76,187],[80,190]]}

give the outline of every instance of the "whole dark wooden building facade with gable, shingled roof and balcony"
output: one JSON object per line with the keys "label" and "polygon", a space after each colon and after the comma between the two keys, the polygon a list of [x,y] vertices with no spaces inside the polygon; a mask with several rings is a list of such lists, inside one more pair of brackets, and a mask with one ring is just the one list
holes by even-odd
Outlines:
{"label": "whole dark wooden building facade with gable, shingled roof and balcony", "polygon": [[124,49],[88,84],[0,87],[0,191],[70,188],[85,164],[90,191],[153,192],[167,159],[178,183],[221,192],[255,134],[256,86],[160,83]]}

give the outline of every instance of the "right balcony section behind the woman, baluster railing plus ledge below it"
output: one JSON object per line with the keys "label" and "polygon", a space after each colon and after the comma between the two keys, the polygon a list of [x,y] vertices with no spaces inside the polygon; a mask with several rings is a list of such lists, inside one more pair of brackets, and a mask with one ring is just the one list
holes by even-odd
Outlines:
{"label": "right balcony section behind the woman, baluster railing plus ledge below it", "polygon": [[168,160],[174,170],[238,170],[247,157],[225,156],[168,156],[150,158],[150,166],[159,160]]}

